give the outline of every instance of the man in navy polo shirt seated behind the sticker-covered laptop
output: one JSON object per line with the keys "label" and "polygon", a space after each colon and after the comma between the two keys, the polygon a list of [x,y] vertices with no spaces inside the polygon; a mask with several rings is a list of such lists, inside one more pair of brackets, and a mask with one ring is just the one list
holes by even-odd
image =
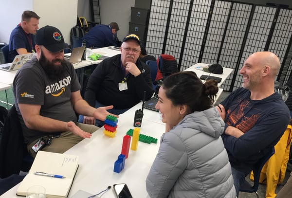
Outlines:
{"label": "man in navy polo shirt seated behind the sticker-covered laptop", "polygon": [[21,22],[10,35],[8,62],[12,62],[18,54],[35,52],[35,35],[39,18],[33,11],[26,10],[22,13]]}

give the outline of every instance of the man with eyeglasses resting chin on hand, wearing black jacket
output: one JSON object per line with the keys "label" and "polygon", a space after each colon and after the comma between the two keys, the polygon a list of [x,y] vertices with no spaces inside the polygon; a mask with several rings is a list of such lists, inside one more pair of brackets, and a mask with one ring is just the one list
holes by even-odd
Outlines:
{"label": "man with eyeglasses resting chin on hand, wearing black jacket", "polygon": [[[104,59],[92,72],[85,88],[84,99],[91,107],[113,105],[110,113],[121,114],[153,95],[150,69],[140,61],[141,41],[130,34],[123,39],[121,54]],[[93,117],[79,116],[79,122],[103,126]]]}

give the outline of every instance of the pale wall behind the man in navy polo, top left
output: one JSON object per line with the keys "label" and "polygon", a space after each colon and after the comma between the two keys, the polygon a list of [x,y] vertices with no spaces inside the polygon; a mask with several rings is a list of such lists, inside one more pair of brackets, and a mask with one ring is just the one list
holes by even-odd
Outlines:
{"label": "pale wall behind the man in navy polo, top left", "polygon": [[33,10],[40,17],[39,28],[55,26],[62,32],[65,42],[70,43],[70,30],[76,24],[77,0],[0,0],[0,5],[0,42],[8,43],[23,11]]}

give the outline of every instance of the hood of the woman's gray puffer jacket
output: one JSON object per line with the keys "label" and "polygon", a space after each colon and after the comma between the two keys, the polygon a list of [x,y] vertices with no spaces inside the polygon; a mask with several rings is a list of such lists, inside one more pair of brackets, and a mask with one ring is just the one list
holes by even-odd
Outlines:
{"label": "hood of the woman's gray puffer jacket", "polygon": [[188,114],[177,125],[177,127],[199,130],[215,138],[224,132],[224,126],[224,121],[215,107]]}

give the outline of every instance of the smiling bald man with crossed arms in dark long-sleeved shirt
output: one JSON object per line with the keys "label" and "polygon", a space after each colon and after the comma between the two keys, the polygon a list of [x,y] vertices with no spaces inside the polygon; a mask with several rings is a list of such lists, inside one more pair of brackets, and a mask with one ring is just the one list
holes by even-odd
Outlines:
{"label": "smiling bald man with crossed arms in dark long-sleeved shirt", "polygon": [[233,91],[217,107],[225,122],[221,137],[232,166],[237,197],[253,165],[280,140],[290,122],[288,107],[274,92],[279,70],[280,61],[275,54],[251,54],[239,72],[243,88]]}

